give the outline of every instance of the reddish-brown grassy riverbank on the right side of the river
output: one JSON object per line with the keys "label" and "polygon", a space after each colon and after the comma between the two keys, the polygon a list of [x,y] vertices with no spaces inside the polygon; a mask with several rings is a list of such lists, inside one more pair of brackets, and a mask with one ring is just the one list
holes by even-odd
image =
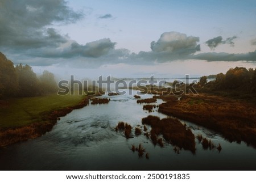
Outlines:
{"label": "reddish-brown grassy riverbank on the right side of the river", "polygon": [[256,108],[242,100],[216,95],[159,96],[167,101],[159,111],[213,129],[230,142],[245,141],[256,147]]}

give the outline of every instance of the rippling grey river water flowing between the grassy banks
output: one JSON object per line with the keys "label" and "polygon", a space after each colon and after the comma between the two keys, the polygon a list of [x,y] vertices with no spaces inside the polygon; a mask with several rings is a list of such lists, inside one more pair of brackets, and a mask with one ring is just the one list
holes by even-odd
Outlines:
{"label": "rippling grey river water flowing between the grassy banks", "polygon": [[[174,146],[154,146],[145,136],[126,139],[114,127],[125,121],[133,127],[141,125],[148,115],[167,117],[162,113],[147,113],[131,95],[101,96],[109,104],[88,105],[62,117],[52,131],[42,137],[16,143],[0,149],[0,170],[256,170],[256,150],[245,143],[230,143],[220,134],[185,122],[192,132],[201,133],[221,144],[220,153],[204,150],[196,140],[196,154]],[[142,98],[152,98],[143,95]],[[158,100],[157,104],[162,103]],[[139,158],[132,144],[142,143],[150,158]]]}

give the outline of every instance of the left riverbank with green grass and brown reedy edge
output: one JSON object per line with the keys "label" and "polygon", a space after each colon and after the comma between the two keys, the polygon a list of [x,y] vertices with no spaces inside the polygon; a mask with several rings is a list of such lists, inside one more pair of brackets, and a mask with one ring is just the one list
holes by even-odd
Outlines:
{"label": "left riverbank with green grass and brown reedy edge", "polygon": [[59,117],[88,104],[86,95],[52,94],[2,101],[0,147],[40,137],[52,130]]}

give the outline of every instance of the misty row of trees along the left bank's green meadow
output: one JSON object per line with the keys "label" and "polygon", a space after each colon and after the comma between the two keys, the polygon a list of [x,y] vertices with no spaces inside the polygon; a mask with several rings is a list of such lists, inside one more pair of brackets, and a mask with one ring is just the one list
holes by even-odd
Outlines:
{"label": "misty row of trees along the left bank's green meadow", "polygon": [[43,71],[37,77],[29,65],[16,65],[0,52],[0,98],[31,97],[57,91],[54,75]]}

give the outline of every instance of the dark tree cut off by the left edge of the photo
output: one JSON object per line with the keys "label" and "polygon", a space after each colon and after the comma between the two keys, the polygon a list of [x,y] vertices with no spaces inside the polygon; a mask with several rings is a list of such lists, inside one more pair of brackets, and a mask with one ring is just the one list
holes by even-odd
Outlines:
{"label": "dark tree cut off by the left edge of the photo", "polygon": [[0,52],[0,98],[14,96],[18,91],[18,77],[13,62]]}

